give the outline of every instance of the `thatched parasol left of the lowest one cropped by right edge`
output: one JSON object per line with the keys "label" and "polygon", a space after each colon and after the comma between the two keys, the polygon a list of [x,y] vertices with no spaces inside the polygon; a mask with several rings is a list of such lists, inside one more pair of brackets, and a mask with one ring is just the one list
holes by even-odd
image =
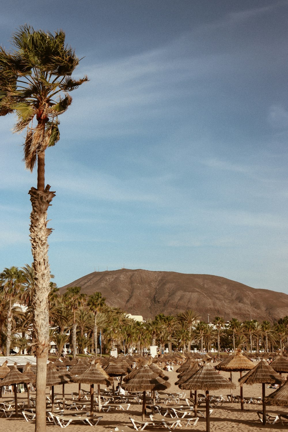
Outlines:
{"label": "thatched parasol left of the lowest one cropped by right edge", "polygon": [[275,370],[262,359],[255,368],[239,379],[240,384],[262,384],[263,425],[266,424],[265,384],[282,384],[282,378]]}

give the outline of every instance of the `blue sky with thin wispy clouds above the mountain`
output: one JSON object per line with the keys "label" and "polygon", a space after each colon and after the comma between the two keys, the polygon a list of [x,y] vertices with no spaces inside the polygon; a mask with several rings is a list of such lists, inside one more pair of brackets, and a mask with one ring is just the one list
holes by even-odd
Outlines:
{"label": "blue sky with thin wispy clouds above the mountain", "polygon": [[[46,152],[57,285],[124,265],[288,293],[288,1],[31,5],[2,5],[1,46],[24,23],[63,29],[90,79]],[[36,172],[14,122],[0,118],[0,270],[32,262]]]}

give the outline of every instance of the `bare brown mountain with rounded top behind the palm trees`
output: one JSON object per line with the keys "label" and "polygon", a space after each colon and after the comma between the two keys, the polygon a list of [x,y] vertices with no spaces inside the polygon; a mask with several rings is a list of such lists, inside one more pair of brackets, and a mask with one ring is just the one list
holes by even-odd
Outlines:
{"label": "bare brown mountain with rounded top behind the palm trees", "polygon": [[287,294],[207,274],[121,269],[90,273],[60,288],[60,294],[68,286],[81,286],[87,295],[100,291],[109,306],[143,318],[188,308],[204,321],[207,314],[210,320],[222,316],[272,322],[288,314]]}

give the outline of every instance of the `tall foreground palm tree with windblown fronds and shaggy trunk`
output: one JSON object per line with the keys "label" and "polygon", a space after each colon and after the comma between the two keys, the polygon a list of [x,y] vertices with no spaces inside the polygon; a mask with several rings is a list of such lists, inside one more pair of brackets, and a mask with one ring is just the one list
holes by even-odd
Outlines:
{"label": "tall foreground palm tree with windblown fronds and shaggy trunk", "polygon": [[30,239],[32,244],[35,292],[33,298],[36,336],[36,432],[46,430],[45,385],[49,350],[47,209],[54,192],[45,187],[45,150],[60,138],[58,116],[72,102],[68,92],[77,89],[83,79],[71,75],[79,64],[72,48],[65,45],[65,33],[35,31],[24,25],[14,33],[15,51],[0,48],[0,115],[15,112],[16,132],[26,130],[25,165],[31,171],[37,164],[37,189],[29,191],[32,203]]}

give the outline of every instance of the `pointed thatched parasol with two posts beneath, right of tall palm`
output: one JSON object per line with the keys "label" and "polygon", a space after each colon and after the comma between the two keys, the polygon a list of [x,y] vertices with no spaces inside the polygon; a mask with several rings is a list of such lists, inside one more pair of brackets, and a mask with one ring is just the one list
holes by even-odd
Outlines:
{"label": "pointed thatched parasol with two posts beneath, right of tall palm", "polygon": [[101,399],[100,399],[100,384],[111,385],[111,378],[109,375],[101,368],[99,363],[91,363],[89,368],[78,375],[75,378],[71,378],[73,382],[82,382],[83,384],[90,384],[90,415],[94,414],[94,384],[98,384],[98,408],[99,413],[101,411]]}

